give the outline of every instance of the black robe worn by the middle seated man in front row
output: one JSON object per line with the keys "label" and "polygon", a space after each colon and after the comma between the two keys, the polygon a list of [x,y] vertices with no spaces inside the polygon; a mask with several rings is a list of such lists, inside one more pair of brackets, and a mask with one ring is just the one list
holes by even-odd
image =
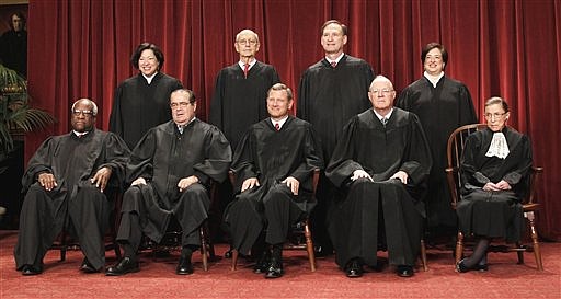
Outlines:
{"label": "black robe worn by the middle seated man in front row", "polygon": [[[243,136],[236,150],[232,169],[236,173],[234,189],[238,192],[249,177],[256,177],[260,183],[259,187],[238,195],[225,212],[225,221],[231,228],[239,228],[231,231],[233,248],[247,254],[264,228],[261,219],[263,198],[283,180],[293,176],[300,182],[298,196],[290,193],[288,199],[296,203],[299,214],[311,210],[316,204],[316,198],[311,196],[311,174],[314,169],[323,169],[323,159],[308,122],[289,116],[277,131],[271,118],[267,118],[251,126]],[[248,209],[238,205],[240,196],[249,196],[253,206]]]}

